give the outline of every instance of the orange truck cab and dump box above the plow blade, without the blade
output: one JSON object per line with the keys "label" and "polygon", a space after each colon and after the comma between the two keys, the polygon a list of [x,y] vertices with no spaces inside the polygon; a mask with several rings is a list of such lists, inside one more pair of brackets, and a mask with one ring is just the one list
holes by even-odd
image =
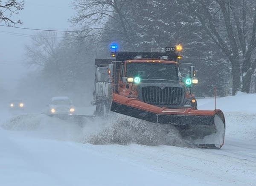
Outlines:
{"label": "orange truck cab and dump box above the plow blade, without the blade", "polygon": [[190,91],[197,83],[195,68],[183,79],[178,56],[175,51],[116,52],[116,61],[96,59],[94,99],[111,102],[111,93],[117,93],[160,108],[197,109]]}

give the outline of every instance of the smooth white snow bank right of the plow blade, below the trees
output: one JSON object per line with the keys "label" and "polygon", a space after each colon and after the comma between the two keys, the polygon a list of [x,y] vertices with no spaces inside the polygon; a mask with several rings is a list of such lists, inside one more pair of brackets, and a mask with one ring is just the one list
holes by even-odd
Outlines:
{"label": "smooth white snow bank right of the plow blade, below the trees", "polygon": [[[226,136],[256,139],[256,94],[237,93],[236,96],[217,98],[216,108],[224,112]],[[214,99],[198,99],[198,109],[213,110]]]}

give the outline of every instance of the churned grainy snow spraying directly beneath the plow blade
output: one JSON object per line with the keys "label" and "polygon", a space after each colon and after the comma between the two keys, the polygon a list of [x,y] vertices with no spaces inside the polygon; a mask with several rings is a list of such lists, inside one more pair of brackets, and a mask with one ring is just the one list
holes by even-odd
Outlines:
{"label": "churned grainy snow spraying directly beneath the plow blade", "polygon": [[120,115],[117,119],[112,119],[111,125],[106,125],[101,131],[93,131],[90,135],[86,135],[85,142],[92,144],[184,145],[174,126],[156,125]]}

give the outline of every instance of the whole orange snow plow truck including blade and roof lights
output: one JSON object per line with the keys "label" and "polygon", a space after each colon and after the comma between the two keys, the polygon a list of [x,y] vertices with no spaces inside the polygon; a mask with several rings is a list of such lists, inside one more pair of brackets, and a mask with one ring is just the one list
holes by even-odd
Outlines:
{"label": "whole orange snow plow truck including blade and roof lights", "polygon": [[95,115],[110,111],[152,123],[174,125],[184,139],[206,148],[224,144],[225,119],[221,110],[198,110],[191,87],[198,83],[195,67],[182,78],[182,46],[165,52],[119,52],[115,59],[95,59]]}

